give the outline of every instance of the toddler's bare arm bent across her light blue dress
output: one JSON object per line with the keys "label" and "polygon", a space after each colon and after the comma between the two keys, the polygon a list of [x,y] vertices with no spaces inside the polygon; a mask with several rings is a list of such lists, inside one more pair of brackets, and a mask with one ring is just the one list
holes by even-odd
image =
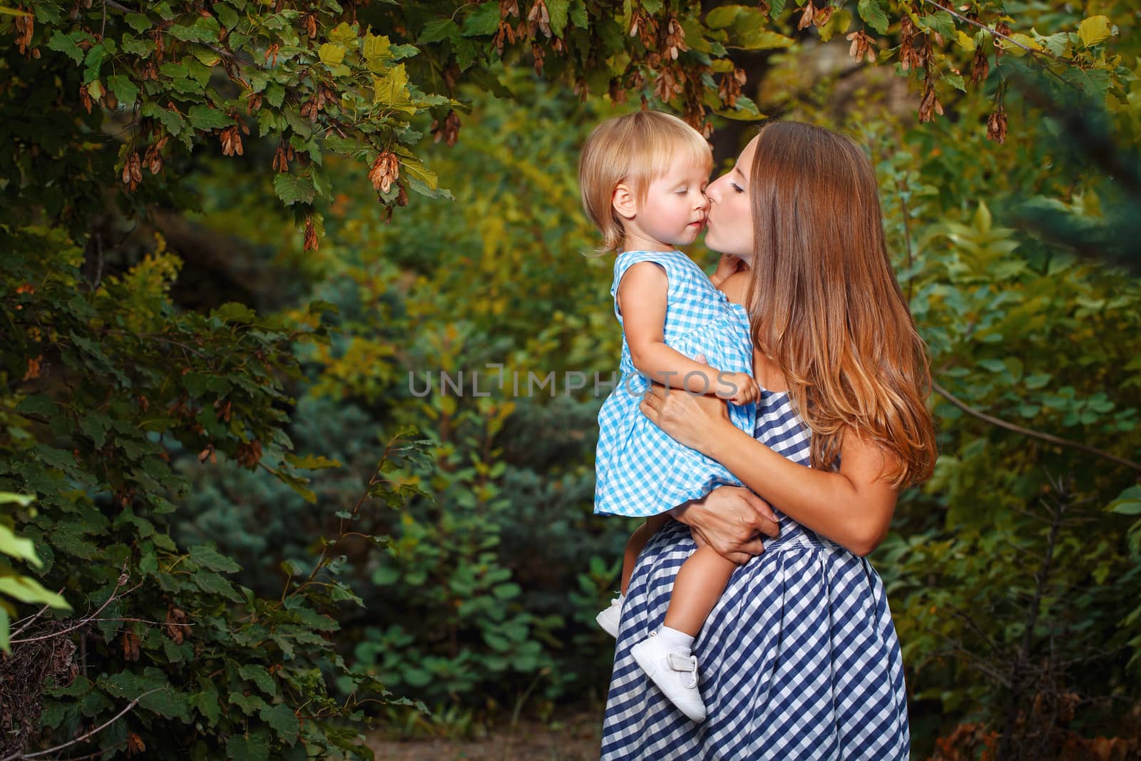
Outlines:
{"label": "toddler's bare arm bent across her light blue dress", "polygon": [[695,362],[665,345],[665,308],[670,281],[652,261],[632,265],[618,283],[618,309],[634,367],[652,381],[695,394],[717,394],[736,404],[759,396],[753,379],[745,373],[718,373],[715,367]]}

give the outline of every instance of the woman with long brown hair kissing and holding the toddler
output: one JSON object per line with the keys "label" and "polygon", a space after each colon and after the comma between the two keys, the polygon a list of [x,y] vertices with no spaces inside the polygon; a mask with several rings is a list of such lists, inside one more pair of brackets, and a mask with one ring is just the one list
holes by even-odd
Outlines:
{"label": "woman with long brown hair kissing and holding the toddler", "polygon": [[[674,509],[680,523],[647,544],[623,608],[602,758],[906,759],[899,642],[864,556],[887,534],[899,489],[930,475],[934,434],[875,176],[850,139],[775,122],[706,195],[706,244],[750,264],[722,289],[750,310],[756,438],[713,397],[655,387],[642,412],[772,511],[722,487]],[[759,534],[776,536],[763,552]],[[673,710],[630,653],[661,624],[697,543],[743,564],[694,646],[703,724]]]}

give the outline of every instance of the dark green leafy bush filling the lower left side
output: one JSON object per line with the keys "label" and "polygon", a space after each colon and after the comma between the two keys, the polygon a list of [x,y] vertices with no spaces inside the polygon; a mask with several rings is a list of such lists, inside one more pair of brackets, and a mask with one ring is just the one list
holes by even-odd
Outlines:
{"label": "dark green leafy bush filling the lower left side", "polygon": [[[169,533],[171,500],[188,486],[171,469],[172,448],[196,453],[200,468],[221,458],[261,469],[315,499],[301,469],[330,463],[291,455],[278,406],[289,402],[282,381],[298,373],[293,347],[324,340],[327,307],[296,319],[237,303],[177,313],[167,290],[179,261],[161,240],[152,257],[92,288],[58,233],[5,234],[14,251],[0,276],[3,373],[23,389],[3,404],[0,488],[39,495],[17,527],[44,560],[43,583],[92,612],[82,673],[48,686],[43,728],[72,737],[137,701],[95,738],[108,754],[128,750],[129,735],[195,759],[365,754],[358,706],[387,693],[350,675],[329,639],[339,629],[330,614],[357,599],[334,554],[355,513],[272,598],[235,585],[230,558]],[[414,454],[394,442],[357,511],[371,497],[405,499],[380,471]],[[17,662],[23,642],[66,633],[32,624],[13,639]],[[348,701],[326,688],[338,675],[351,685]]]}

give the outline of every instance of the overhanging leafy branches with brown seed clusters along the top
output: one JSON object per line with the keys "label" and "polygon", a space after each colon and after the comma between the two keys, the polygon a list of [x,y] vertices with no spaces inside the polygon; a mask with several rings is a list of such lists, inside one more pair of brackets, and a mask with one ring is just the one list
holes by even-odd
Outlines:
{"label": "overhanging leafy branches with brown seed clusters along the top", "polygon": [[[980,23],[996,30],[1022,22],[1022,31],[990,37],[1006,52],[1029,55],[1035,65],[1090,89],[1095,99],[1132,78],[1110,49],[1119,30],[1103,15],[1059,17],[1031,3],[1025,18],[1014,19],[989,1],[971,8],[973,24],[934,3],[861,0],[855,10],[877,34],[898,25],[881,58],[898,55],[903,73],[922,71],[924,121],[932,108],[942,111],[936,107],[937,83],[965,89],[960,72],[986,43],[986,34],[976,33]],[[121,179],[124,209],[152,202],[193,208],[194,199],[165,178],[164,167],[213,139],[224,155],[242,156],[244,138],[256,139],[274,151],[274,191],[293,208],[306,250],[315,250],[324,234],[315,204],[332,201],[339,179],[325,168],[329,157],[354,162],[355,184],[367,177],[389,211],[412,191],[446,196],[419,144],[429,115],[436,139],[455,141],[456,111],[468,108],[458,99],[464,86],[508,95],[504,76],[529,60],[536,72],[573,82],[583,97],[654,97],[709,130],[711,114],[760,115],[741,91],[737,51],[788,48],[794,23],[815,23],[827,40],[853,21],[851,10],[827,3],[814,11],[811,2],[803,11],[784,13],[779,2],[767,14],[744,5],[703,14],[695,5],[610,0],[362,8],[334,0],[228,0],[209,10],[148,0],[73,11],[60,0],[21,0],[0,15],[0,38],[14,40],[0,62],[10,78],[0,104],[5,113],[30,106],[40,120],[5,120],[0,141],[18,147],[0,154],[0,171],[14,178],[2,197],[22,209],[34,195],[49,217],[79,235],[86,216],[99,211],[99,187]],[[1035,24],[1043,19],[1066,29],[1039,34]],[[857,60],[875,59],[865,54],[879,41],[865,31],[852,35]],[[992,49],[997,56],[994,43]],[[973,57],[972,71],[986,64],[986,51],[981,62]],[[995,105],[1004,114],[1001,92]],[[72,131],[78,119],[83,131],[98,132],[105,116],[119,124],[120,139],[99,145]],[[34,191],[33,178],[41,180]]]}

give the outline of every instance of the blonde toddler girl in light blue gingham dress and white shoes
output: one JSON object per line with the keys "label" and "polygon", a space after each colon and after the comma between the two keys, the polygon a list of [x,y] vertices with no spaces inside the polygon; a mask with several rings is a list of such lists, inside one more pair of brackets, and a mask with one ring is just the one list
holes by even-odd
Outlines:
{"label": "blonde toddler girl in light blue gingham dress and white shoes", "polygon": [[[594,512],[646,517],[626,544],[622,593],[598,614],[615,637],[634,561],[666,511],[717,486],[741,485],[641,414],[649,383],[729,399],[733,423],[753,432],[759,389],[748,314],[715,288],[739,260],[723,257],[711,280],[677,250],[702,230],[712,163],[695,129],[642,111],[594,128],[578,164],[583,207],[602,233],[602,250],[620,251],[610,294],[623,329],[622,377],[598,414]],[[633,647],[639,665],[693,721],[705,719],[705,705],[691,645],[735,567],[709,547],[697,549],[678,573],[664,625]]]}

